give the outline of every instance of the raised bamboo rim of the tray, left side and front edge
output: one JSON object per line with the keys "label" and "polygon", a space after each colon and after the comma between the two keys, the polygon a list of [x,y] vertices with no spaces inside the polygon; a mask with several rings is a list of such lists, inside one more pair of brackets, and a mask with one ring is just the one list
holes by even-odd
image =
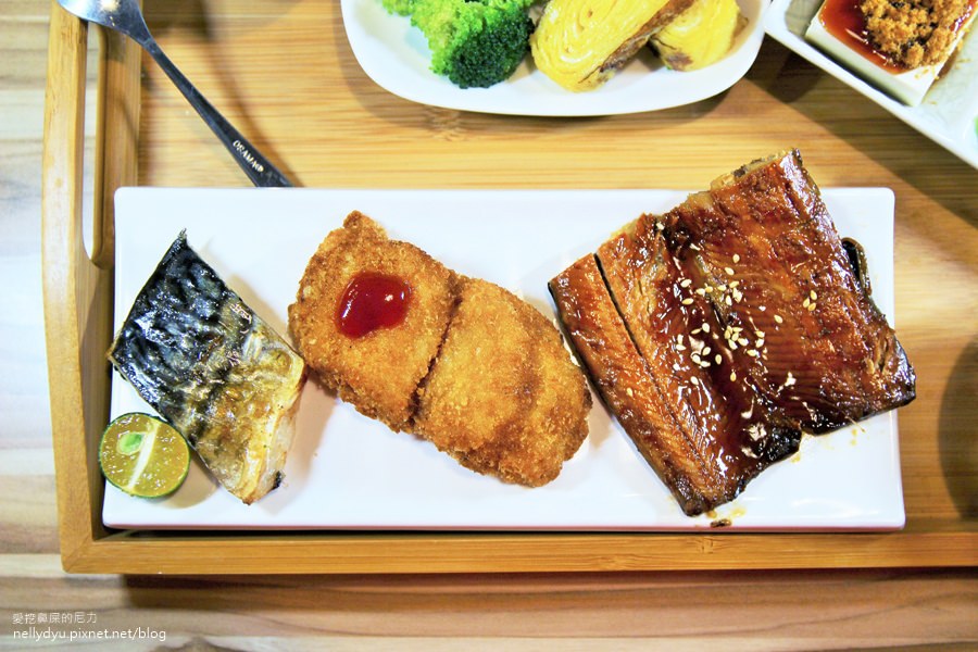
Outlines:
{"label": "raised bamboo rim of the tray, left side and front edge", "polygon": [[[303,7],[308,4],[300,2],[299,8]],[[342,47],[338,11],[323,11],[330,14],[327,17],[333,22],[331,32],[327,29],[317,38],[331,42],[342,58],[337,74],[355,76],[355,62]],[[96,449],[108,421],[110,391],[104,351],[112,336],[112,198],[116,188],[142,180],[137,176],[137,160],[142,163],[151,152],[139,143],[141,52],[137,46],[114,36],[104,36],[101,43],[92,211],[95,246],[87,252],[82,198],[88,29],[52,2],[45,115],[42,255],[61,551],[66,570],[514,573],[974,566],[978,562],[978,531],[974,519],[948,510],[945,496],[929,486],[915,486],[913,497],[907,500],[907,526],[900,532],[175,534],[106,529],[101,523],[103,480]],[[333,90],[342,92],[342,86],[340,80]],[[341,98],[338,110],[359,108],[369,112],[376,111],[381,102],[399,101],[387,99],[376,89],[367,90],[366,97],[365,106],[358,106],[349,97]],[[425,111],[427,118],[435,122],[459,120],[450,112]],[[674,122],[685,121],[681,112],[673,115]],[[542,121],[518,124],[544,126]],[[576,126],[598,128],[588,122]],[[451,135],[457,128],[450,124],[447,133]],[[679,133],[682,133],[681,125]],[[493,161],[506,159],[503,146],[489,136],[486,141],[490,155],[496,156]],[[500,149],[492,149],[496,147]],[[709,143],[704,147],[709,149]],[[221,155],[223,152],[215,154]],[[719,166],[715,170],[723,171]],[[166,181],[167,177],[163,175],[162,179]],[[505,184],[506,180],[503,174],[489,177],[486,183]],[[925,453],[918,454],[921,450]],[[928,447],[917,447],[914,454],[904,457],[905,480],[919,482],[921,478],[940,474],[937,454],[928,455]],[[974,469],[968,473],[974,478]],[[933,501],[943,506],[928,513],[928,503]]]}

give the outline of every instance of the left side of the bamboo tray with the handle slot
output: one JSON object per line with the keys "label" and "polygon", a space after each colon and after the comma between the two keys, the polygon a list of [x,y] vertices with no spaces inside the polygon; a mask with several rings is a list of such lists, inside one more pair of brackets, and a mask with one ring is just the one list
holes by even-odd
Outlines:
{"label": "left side of the bamboo tray with the handle slot", "polygon": [[[114,214],[136,178],[139,57],[99,32],[92,251],[83,235],[88,26],[51,2],[41,177],[41,263],[62,559],[103,536],[96,448],[109,412]],[[106,89],[118,89],[110,96]],[[112,152],[105,156],[105,152]],[[85,469],[85,471],[83,471]]]}

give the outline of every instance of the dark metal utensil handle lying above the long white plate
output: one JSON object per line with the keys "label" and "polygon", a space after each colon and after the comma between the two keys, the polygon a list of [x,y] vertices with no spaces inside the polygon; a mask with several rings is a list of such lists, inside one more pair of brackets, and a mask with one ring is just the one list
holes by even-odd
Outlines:
{"label": "dark metal utensil handle lying above the long white plate", "polygon": [[227,151],[231,153],[248,178],[263,188],[289,188],[292,186],[286,176],[259,152],[238,129],[234,127],[214,106],[201,95],[190,80],[177,68],[176,65],[163,52],[162,48],[148,34],[145,38],[137,39],[147,52],[156,61],[166,76],[173,80],[176,87],[184,93],[190,105],[193,106],[203,121],[211,127]]}

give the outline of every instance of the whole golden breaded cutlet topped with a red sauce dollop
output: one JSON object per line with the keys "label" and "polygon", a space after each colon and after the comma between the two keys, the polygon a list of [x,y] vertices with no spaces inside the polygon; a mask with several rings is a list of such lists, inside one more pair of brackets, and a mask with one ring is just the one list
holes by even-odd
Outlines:
{"label": "whole golden breaded cutlet topped with a red sauce dollop", "polygon": [[547,317],[361,213],[313,255],[289,327],[327,388],[478,473],[544,485],[587,436],[587,381]]}

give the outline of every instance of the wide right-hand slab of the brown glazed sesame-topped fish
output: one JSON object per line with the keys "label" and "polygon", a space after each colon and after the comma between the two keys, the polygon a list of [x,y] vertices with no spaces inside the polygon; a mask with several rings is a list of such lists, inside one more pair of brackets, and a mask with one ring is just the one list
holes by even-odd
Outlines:
{"label": "wide right-hand slab of the brown glazed sesame-topped fish", "polygon": [[707,298],[740,329],[735,362],[769,419],[823,432],[914,399],[913,368],[797,152],[738,171],[665,223],[680,264],[726,285]]}

